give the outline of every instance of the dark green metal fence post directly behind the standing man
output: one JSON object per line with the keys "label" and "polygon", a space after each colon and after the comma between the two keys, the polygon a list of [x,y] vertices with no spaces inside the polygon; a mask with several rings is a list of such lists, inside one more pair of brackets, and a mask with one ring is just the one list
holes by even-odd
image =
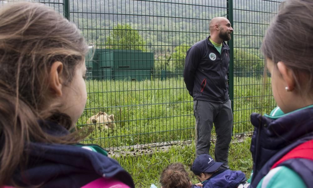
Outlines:
{"label": "dark green metal fence post directly behind the standing man", "polygon": [[[227,0],[227,18],[233,26],[233,0]],[[230,48],[230,61],[229,61],[229,98],[232,102],[232,111],[234,114],[234,38],[233,32],[231,34],[232,39],[228,41],[228,46]]]}

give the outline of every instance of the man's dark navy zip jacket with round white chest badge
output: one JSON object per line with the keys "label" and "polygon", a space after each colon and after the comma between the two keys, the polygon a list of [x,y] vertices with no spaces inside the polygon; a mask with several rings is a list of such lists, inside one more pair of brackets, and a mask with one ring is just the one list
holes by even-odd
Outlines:
{"label": "man's dark navy zip jacket with round white chest badge", "polygon": [[193,100],[224,103],[228,101],[228,45],[221,54],[206,39],[195,43],[186,54],[184,81]]}

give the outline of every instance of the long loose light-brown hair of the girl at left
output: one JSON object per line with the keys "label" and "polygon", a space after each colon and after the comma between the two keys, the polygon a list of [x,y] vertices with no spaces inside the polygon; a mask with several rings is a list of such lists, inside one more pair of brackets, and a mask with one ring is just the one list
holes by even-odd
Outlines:
{"label": "long loose light-brown hair of the girl at left", "polygon": [[52,63],[63,63],[65,85],[84,63],[88,46],[80,30],[43,4],[19,2],[0,9],[0,186],[14,185],[13,172],[27,161],[27,143],[72,144],[66,136],[45,133],[38,120],[73,128],[68,115],[44,109]]}

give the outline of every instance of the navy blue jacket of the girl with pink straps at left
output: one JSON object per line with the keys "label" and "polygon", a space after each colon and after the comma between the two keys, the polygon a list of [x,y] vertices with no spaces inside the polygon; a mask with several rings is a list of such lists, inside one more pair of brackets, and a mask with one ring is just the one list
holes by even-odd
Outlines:
{"label": "navy blue jacket of the girl with pink straps at left", "polygon": [[[51,123],[50,123],[51,124]],[[54,124],[50,132],[64,134],[63,127]],[[120,180],[135,187],[131,176],[117,161],[100,153],[74,145],[29,143],[28,164],[22,172],[16,170],[13,179],[20,186],[81,187],[100,177]]]}

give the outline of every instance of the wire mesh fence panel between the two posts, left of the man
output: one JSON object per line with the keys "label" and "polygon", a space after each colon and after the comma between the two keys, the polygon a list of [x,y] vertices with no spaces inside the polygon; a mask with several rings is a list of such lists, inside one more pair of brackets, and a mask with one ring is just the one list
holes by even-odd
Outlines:
{"label": "wire mesh fence panel between the two posts, left of the man", "polygon": [[[69,7],[90,47],[111,50],[98,61],[110,62],[112,79],[86,81],[88,101],[77,126],[95,131],[85,143],[112,148],[193,139],[184,59],[208,36],[209,20],[227,15],[226,1],[86,0]],[[115,116],[113,131],[87,124],[99,111]]]}

